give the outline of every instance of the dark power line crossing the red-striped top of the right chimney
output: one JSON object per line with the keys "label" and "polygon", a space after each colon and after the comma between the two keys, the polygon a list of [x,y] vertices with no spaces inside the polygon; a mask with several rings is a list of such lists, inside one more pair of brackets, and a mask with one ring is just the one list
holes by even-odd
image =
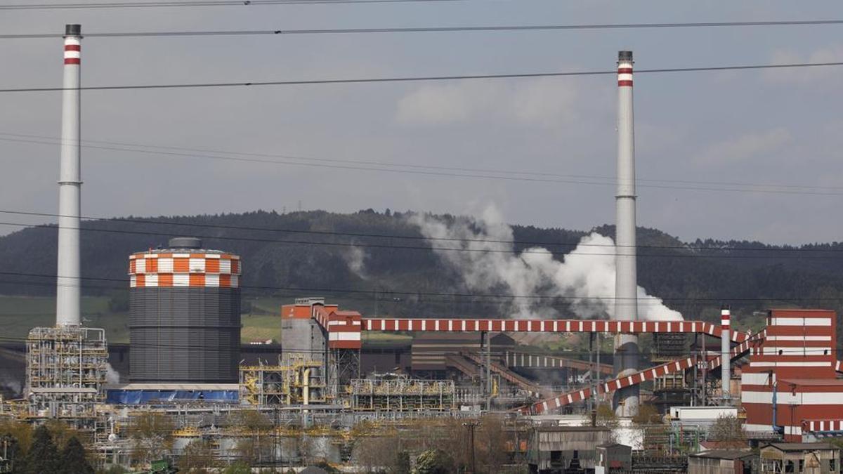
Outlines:
{"label": "dark power line crossing the red-striped top of the right chimney", "polygon": [[[708,67],[665,67],[659,69],[637,69],[636,74],[649,73],[700,73],[710,71],[747,71],[763,69],[782,69],[799,67],[829,67],[843,66],[843,62],[793,62],[787,64],[754,64],[738,66],[708,66]],[[207,89],[227,87],[251,87],[271,85],[316,85],[316,84],[348,84],[348,83],[406,83],[421,81],[453,81],[470,79],[503,79],[503,78],[550,78],[573,76],[604,76],[616,74],[616,70],[609,71],[570,71],[560,73],[508,73],[508,74],[466,74],[446,76],[408,76],[393,78],[345,78],[345,79],[303,79],[287,81],[258,81],[232,83],[169,83],[169,84],[131,84],[131,85],[99,85],[83,86],[72,90],[137,90],[137,89]],[[62,87],[30,87],[0,89],[0,92],[51,92],[65,90]]]}

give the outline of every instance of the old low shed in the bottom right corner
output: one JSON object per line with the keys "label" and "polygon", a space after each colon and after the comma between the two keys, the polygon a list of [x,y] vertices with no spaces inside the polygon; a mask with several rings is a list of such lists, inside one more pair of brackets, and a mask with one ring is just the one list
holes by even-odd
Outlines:
{"label": "old low shed in the bottom right corner", "polygon": [[760,450],[762,472],[840,472],[840,450],[827,443],[771,443]]}

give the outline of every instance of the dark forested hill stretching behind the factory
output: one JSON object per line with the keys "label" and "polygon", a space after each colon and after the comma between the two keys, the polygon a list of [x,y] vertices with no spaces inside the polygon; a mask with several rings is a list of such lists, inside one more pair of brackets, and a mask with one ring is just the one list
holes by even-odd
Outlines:
{"label": "dark forested hill stretching behind the factory", "polygon": [[[557,256],[587,234],[533,226],[513,230],[517,250],[538,242]],[[615,234],[612,226],[593,230]],[[247,296],[325,295],[354,304],[357,310],[395,315],[476,315],[502,303],[443,295],[471,292],[426,240],[401,238],[421,237],[406,214],[371,209],[352,214],[258,211],[86,221],[84,293],[125,294],[129,254],[165,245],[169,237],[179,235],[198,236],[206,248],[239,254]],[[744,315],[788,304],[841,309],[843,245],[839,243],[800,248],[746,241],[684,243],[656,229],[638,229],[638,243],[639,284],[686,317],[711,317],[722,302]],[[356,272],[352,267],[360,261],[362,269]],[[24,229],[0,238],[0,262],[0,294],[54,294],[50,276],[56,272],[56,228]]]}

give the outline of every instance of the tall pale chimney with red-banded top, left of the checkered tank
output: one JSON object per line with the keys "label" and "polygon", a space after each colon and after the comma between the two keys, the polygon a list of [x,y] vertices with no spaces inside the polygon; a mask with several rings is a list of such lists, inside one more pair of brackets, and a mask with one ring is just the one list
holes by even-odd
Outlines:
{"label": "tall pale chimney with red-banded top, left of the checkered tank", "polygon": [[58,268],[56,274],[56,325],[78,326],[79,215],[82,177],[79,160],[79,62],[82,27],[67,24],[64,35],[62,83],[62,162],[58,181]]}

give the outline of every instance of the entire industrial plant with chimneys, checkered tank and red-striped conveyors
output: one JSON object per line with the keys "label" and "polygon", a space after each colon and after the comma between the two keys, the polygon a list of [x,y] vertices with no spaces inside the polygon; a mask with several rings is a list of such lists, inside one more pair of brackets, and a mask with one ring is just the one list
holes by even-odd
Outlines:
{"label": "entire industrial plant with chimneys, checkered tank and red-striped conveyors", "polygon": [[[456,430],[474,472],[840,472],[827,443],[843,437],[834,311],[770,309],[760,331],[738,331],[728,302],[716,323],[639,319],[631,51],[617,58],[614,318],[391,317],[299,294],[277,308],[280,343],[243,345],[250,261],[174,235],[126,256],[128,379],[109,380],[108,334],[80,317],[81,39],[68,24],[56,324],[30,331],[24,397],[0,417],[60,420],[98,466],[136,471],[200,443],[217,466],[385,471],[365,467],[362,446],[391,439],[417,465],[427,440]],[[411,342],[376,343],[384,334]],[[538,351],[517,342],[528,334],[582,335],[591,350]],[[485,417],[503,448],[480,466]],[[717,438],[725,423],[738,441]]]}

